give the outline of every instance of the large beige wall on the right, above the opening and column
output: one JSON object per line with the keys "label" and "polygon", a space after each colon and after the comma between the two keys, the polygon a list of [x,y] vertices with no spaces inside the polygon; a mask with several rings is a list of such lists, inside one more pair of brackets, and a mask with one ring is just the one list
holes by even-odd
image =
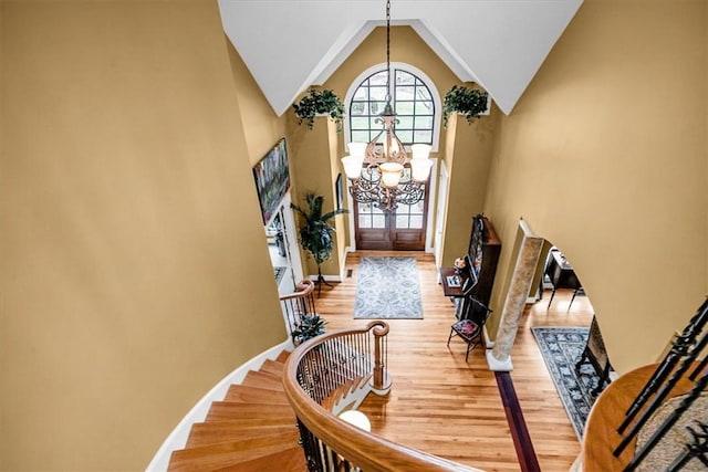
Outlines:
{"label": "large beige wall on the right, above the opening and column", "polygon": [[523,217],[563,250],[620,371],[708,289],[706,8],[586,0],[498,132],[486,212],[507,248]]}

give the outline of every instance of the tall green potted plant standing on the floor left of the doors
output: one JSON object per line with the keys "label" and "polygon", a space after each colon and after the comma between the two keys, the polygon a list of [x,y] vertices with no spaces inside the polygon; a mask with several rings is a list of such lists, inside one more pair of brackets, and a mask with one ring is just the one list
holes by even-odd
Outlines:
{"label": "tall green potted plant standing on the floor left of the doors", "polygon": [[322,290],[321,284],[325,283],[320,265],[332,256],[332,249],[334,247],[332,234],[335,230],[329,221],[337,214],[346,213],[346,210],[342,208],[322,214],[323,202],[323,196],[308,192],[305,195],[305,203],[308,203],[306,210],[303,210],[294,203],[290,203],[290,208],[300,213],[304,220],[300,228],[300,244],[312,254],[314,261],[317,263],[317,293]]}

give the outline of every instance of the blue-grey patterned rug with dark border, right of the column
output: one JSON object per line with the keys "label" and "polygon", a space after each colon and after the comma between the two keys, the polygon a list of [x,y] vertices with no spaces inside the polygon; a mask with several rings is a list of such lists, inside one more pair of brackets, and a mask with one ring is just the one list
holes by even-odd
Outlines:
{"label": "blue-grey patterned rug with dark border, right of the column", "polygon": [[595,402],[591,391],[600,380],[590,364],[581,367],[580,376],[575,374],[575,363],[583,354],[590,329],[539,326],[532,327],[531,331],[575,434],[581,439],[587,416]]}

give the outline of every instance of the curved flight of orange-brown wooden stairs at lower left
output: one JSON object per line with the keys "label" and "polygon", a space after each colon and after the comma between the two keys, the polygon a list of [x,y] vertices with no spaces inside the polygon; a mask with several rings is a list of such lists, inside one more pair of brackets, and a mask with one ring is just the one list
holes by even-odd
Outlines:
{"label": "curved flight of orange-brown wooden stairs at lower left", "polygon": [[170,471],[238,470],[305,472],[295,415],[283,394],[283,363],[266,360],[215,401],[195,423],[185,449],[173,452]]}

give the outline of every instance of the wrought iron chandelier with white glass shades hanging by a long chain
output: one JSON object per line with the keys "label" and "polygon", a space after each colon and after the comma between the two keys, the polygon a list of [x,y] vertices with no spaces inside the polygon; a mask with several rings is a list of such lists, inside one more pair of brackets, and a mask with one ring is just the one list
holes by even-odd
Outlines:
{"label": "wrought iron chandelier with white glass shades hanging by a long chain", "polygon": [[386,1],[386,106],[375,122],[383,129],[368,144],[350,143],[350,155],[342,158],[342,164],[355,201],[392,212],[398,204],[423,200],[433,160],[426,144],[412,145],[409,159],[395,133],[398,119],[391,104],[391,0]]}

